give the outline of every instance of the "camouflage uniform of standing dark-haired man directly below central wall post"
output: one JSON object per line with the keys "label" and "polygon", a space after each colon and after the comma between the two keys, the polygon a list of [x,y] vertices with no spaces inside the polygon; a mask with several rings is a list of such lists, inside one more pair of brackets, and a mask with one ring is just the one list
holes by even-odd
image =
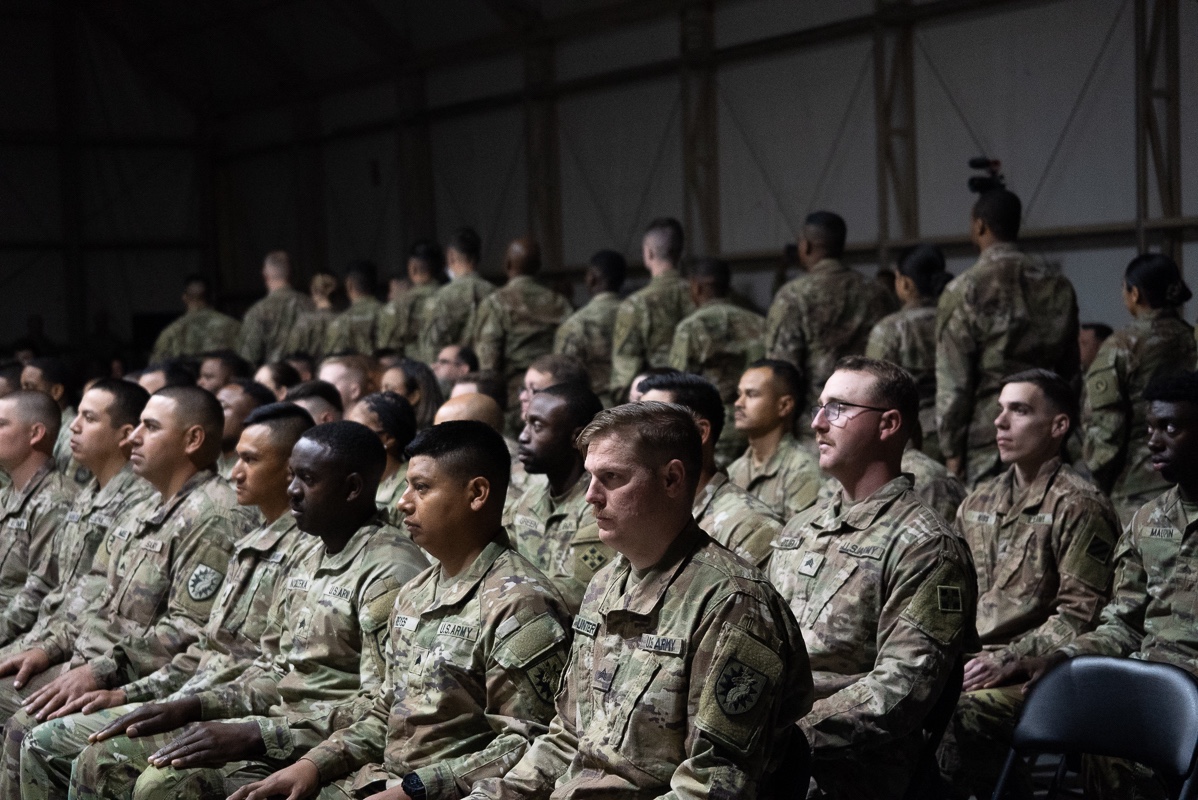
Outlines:
{"label": "camouflage uniform of standing dark-haired man directly below central wall post", "polygon": [[715,443],[720,466],[732,463],[749,444],[732,424],[732,404],[737,401],[740,376],[749,364],[766,354],[761,344],[764,329],[766,317],[721,298],[703,303],[674,328],[670,366],[702,375],[724,399],[725,424]]}

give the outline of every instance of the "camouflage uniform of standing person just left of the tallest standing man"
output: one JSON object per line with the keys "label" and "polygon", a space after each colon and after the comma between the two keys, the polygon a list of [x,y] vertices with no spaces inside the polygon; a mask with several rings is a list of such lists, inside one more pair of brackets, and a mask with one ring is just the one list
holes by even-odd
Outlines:
{"label": "camouflage uniform of standing person just left of the tallest standing man", "polygon": [[939,457],[936,431],[936,303],[904,308],[882,317],[870,331],[865,354],[897,364],[915,378],[919,387],[919,425],[924,429],[922,450],[933,459]]}

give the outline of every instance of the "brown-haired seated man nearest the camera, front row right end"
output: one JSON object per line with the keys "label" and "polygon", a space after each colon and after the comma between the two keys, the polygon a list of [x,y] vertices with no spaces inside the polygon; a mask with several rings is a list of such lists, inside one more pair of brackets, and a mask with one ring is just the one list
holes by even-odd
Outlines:
{"label": "brown-haired seated man nearest the camera, front row right end", "polygon": [[685,410],[600,412],[579,448],[600,535],[621,554],[574,619],[549,733],[471,796],[751,798],[811,704],[794,620],[691,519],[703,450]]}

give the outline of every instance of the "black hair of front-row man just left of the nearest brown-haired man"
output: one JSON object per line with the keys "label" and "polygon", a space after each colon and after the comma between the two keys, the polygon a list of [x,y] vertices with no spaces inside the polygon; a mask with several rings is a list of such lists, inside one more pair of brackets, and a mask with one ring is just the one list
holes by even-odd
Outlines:
{"label": "black hair of front-row man just left of the nearest brown-haired man", "polygon": [[424,455],[464,483],[482,475],[491,485],[491,497],[500,504],[512,478],[508,446],[486,423],[461,419],[441,423],[417,434],[407,446],[409,460]]}

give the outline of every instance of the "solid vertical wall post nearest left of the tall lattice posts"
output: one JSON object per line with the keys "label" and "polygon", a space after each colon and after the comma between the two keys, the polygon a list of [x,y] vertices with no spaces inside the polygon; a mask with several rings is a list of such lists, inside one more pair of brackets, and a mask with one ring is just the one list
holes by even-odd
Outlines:
{"label": "solid vertical wall post nearest left of the tall lattice posts", "polygon": [[713,0],[682,6],[682,159],[686,242],[696,255],[720,253],[719,115]]}

